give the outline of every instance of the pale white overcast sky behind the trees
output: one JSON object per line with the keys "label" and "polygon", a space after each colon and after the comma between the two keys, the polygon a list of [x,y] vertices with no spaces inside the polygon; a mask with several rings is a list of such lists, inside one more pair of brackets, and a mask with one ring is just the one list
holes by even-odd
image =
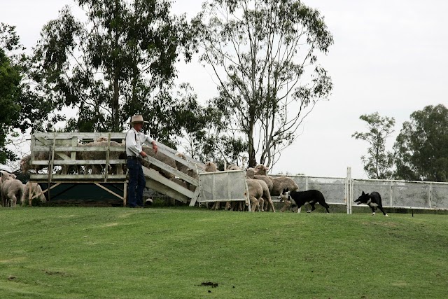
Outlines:
{"label": "pale white overcast sky behind the trees", "polygon": [[[176,14],[196,15],[202,0],[178,0]],[[335,43],[320,64],[332,77],[329,101],[318,102],[304,120],[300,137],[283,151],[272,172],[311,176],[367,178],[360,160],[367,143],[351,137],[365,131],[362,114],[377,111],[395,118],[392,150],[402,123],[427,105],[448,106],[448,1],[443,0],[306,0],[325,17]],[[0,22],[14,25],[27,48],[57,18],[69,0],[0,0]],[[189,82],[198,98],[216,95],[212,76],[193,62],[179,67],[179,80]]]}

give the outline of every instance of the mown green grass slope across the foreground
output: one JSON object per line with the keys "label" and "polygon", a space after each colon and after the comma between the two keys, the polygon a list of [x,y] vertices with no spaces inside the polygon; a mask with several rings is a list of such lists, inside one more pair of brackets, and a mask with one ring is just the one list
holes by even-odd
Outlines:
{"label": "mown green grass slope across the foreground", "polygon": [[444,215],[34,207],[0,219],[0,298],[447,294]]}

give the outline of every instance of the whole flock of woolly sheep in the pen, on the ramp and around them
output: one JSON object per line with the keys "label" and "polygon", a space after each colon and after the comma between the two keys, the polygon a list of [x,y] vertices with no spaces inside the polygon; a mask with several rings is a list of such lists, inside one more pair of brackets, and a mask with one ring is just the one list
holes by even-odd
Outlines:
{"label": "whole flock of woolly sheep in the pen, on the ramp and around them", "polygon": [[[78,146],[122,146],[123,151],[110,151],[109,152],[109,160],[119,160],[126,159],[125,153],[125,144],[118,143],[116,141],[108,141],[106,137],[99,137],[96,141],[92,141],[87,144],[78,144]],[[143,150],[150,155],[151,157],[164,162],[165,165],[169,165],[174,169],[178,169],[179,171],[191,176],[195,179],[198,179],[198,174],[195,169],[191,169],[187,165],[165,155],[161,151],[158,153],[154,153],[153,149],[149,146],[144,146]],[[70,156],[71,153],[65,153]],[[49,152],[48,151],[37,151],[35,153],[35,160],[49,160]],[[176,153],[176,155],[180,158],[186,159],[185,155],[182,153]],[[58,155],[55,155],[55,160],[60,160]],[[76,160],[106,160],[106,151],[77,151],[76,152]],[[31,155],[25,155],[20,161],[20,167],[23,173],[29,172],[31,167],[37,173],[39,170],[46,167],[46,165],[31,165]],[[174,174],[168,172],[165,169],[160,169],[159,167],[149,163],[144,160],[143,164],[145,167],[153,168],[156,171],[160,172],[163,176],[167,177],[176,183],[183,185],[190,190],[193,190],[195,186],[190,186],[189,183],[181,181],[177,179]],[[79,167],[76,165],[75,169],[69,169],[69,165],[63,165],[60,172],[62,174],[68,174],[70,172],[78,173],[78,174],[102,174],[103,172],[109,172],[109,174],[123,174],[126,172],[125,165],[113,165],[113,167],[107,168],[104,165],[85,165],[84,167]],[[229,165],[229,167],[225,170],[238,170],[241,169],[237,165]],[[218,171],[214,162],[206,162],[204,169],[198,169],[200,172],[216,172]],[[246,170],[246,182],[248,186],[249,199],[251,201],[251,210],[252,211],[275,211],[274,204],[272,203],[272,196],[278,196],[282,192],[283,188],[288,188],[289,190],[297,190],[298,186],[293,181],[286,176],[281,177],[272,177],[267,176],[267,167],[264,165],[258,165],[254,168],[248,168]],[[31,186],[31,192],[34,195],[38,195],[38,199],[41,202],[45,202],[45,196],[42,194],[41,187],[37,183],[33,183]],[[22,203],[25,203],[25,198],[29,198],[29,183],[26,185],[22,184],[21,181],[15,179],[14,174],[2,173],[0,180],[0,191],[1,191],[1,199],[3,207],[15,207],[15,204],[18,200]],[[285,211],[289,207],[289,202],[285,202],[285,205],[281,209],[281,211]],[[221,204],[216,202],[213,204],[211,209],[220,209]],[[225,209],[227,210],[244,210],[243,204],[241,202],[230,204],[228,202],[225,205]]]}

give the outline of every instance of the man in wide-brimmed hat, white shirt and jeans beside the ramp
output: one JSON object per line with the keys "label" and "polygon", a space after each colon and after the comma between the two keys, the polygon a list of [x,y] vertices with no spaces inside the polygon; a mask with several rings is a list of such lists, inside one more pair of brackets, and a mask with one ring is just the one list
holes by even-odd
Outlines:
{"label": "man in wide-brimmed hat, white shirt and jeans beside the ramp", "polygon": [[153,144],[154,153],[158,151],[155,140],[140,132],[144,123],[148,122],[143,120],[143,116],[132,116],[130,121],[132,128],[126,133],[127,169],[129,172],[127,202],[128,206],[132,208],[144,206],[143,190],[146,180],[140,158],[145,158],[146,153],[142,149],[142,144]]}

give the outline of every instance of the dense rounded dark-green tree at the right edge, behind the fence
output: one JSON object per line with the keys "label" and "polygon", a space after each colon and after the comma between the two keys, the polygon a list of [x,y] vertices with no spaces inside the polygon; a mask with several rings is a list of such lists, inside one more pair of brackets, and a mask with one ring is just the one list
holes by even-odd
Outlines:
{"label": "dense rounded dark-green tree at the right edge, behind the fence", "polygon": [[448,109],[439,104],[415,111],[403,123],[393,146],[396,176],[417,181],[448,181]]}

